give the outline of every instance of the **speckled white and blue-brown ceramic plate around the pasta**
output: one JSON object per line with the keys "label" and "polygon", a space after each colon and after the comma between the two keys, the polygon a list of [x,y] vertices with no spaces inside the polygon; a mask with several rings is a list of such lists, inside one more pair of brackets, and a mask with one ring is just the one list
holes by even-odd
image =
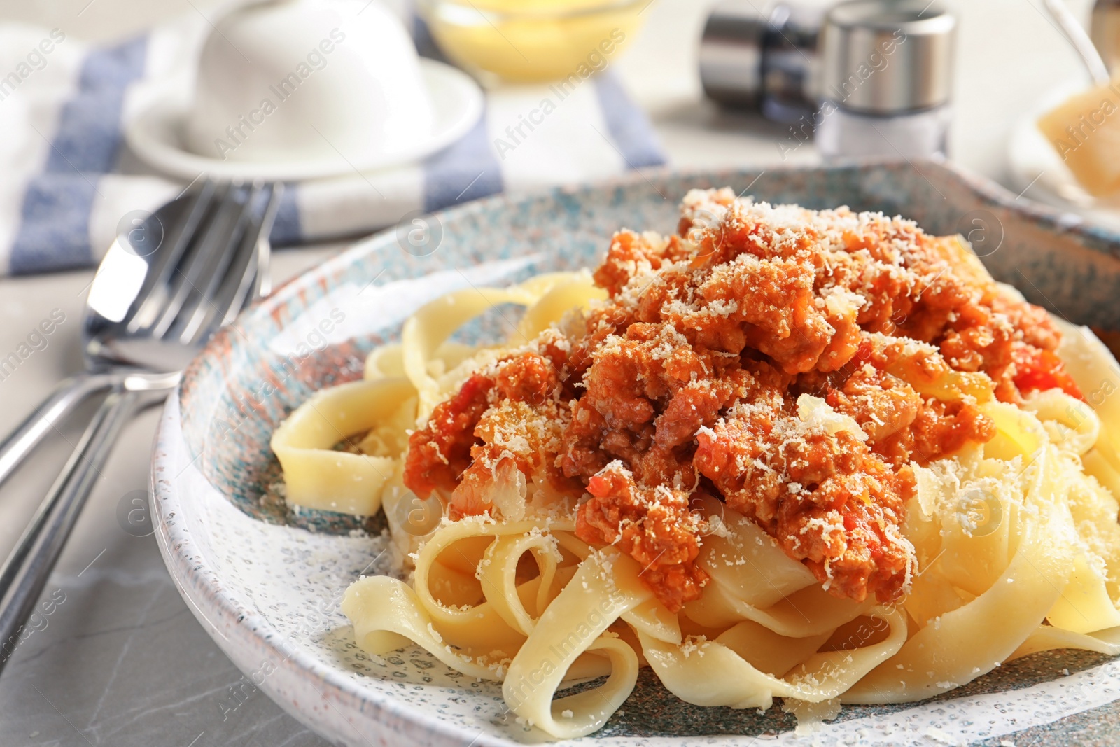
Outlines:
{"label": "speckled white and blue-brown ceramic plate around the pasta", "polygon": [[[356,243],[216,335],[161,420],[152,504],[165,562],[195,616],[256,687],[337,744],[544,740],[503,712],[493,683],[467,682],[419,650],[375,657],[356,647],[338,597],[363,572],[399,572],[383,525],[289,510],[269,438],[312,392],[358,379],[366,353],[398,338],[404,318],[435,296],[594,264],[615,230],[670,233],[688,189],[721,186],[772,203],[902,214],[933,233],[967,234],[997,279],[1032,301],[1120,330],[1120,235],[940,162],[665,169],[410,216],[419,223]],[[494,309],[461,338],[495,339],[513,314]],[[932,701],[846,707],[805,735],[777,706],[691,707],[646,672],[623,710],[578,741],[996,745],[1061,739],[1073,729],[1112,744],[1120,739],[1117,701],[1120,663],[1052,652]]]}

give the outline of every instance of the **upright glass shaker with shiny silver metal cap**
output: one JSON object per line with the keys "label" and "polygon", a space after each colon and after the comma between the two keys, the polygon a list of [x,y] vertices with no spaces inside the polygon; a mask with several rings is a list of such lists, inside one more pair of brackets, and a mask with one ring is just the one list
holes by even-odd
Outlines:
{"label": "upright glass shaker with shiny silver metal cap", "polygon": [[851,0],[821,30],[825,159],[946,153],[956,19],[936,0]]}

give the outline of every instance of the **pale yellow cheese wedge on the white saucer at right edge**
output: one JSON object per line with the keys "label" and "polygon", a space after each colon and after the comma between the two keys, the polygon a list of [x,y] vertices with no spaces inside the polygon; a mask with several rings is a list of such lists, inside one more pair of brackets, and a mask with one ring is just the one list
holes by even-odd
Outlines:
{"label": "pale yellow cheese wedge on the white saucer at right edge", "polygon": [[1038,129],[1090,194],[1120,192],[1120,80],[1068,99]]}

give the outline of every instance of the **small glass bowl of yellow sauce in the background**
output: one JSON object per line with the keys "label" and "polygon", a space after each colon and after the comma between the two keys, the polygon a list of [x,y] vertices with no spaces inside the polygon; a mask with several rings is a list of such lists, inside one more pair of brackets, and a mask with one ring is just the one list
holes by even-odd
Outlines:
{"label": "small glass bowl of yellow sauce in the background", "polygon": [[436,43],[484,82],[586,78],[607,67],[650,0],[419,0]]}

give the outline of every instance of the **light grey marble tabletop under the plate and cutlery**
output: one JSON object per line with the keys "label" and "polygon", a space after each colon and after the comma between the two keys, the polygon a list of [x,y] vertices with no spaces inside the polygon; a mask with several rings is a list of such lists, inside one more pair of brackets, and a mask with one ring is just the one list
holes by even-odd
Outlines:
{"label": "light grey marble tabletop under the plate and cutlery", "polygon": [[[176,12],[213,12],[220,0],[0,0],[0,22],[62,26],[110,39]],[[618,71],[645,106],[676,166],[781,162],[782,128],[719,113],[701,101],[696,39],[709,1],[654,0],[646,28]],[[956,2],[962,16],[954,156],[995,178],[1015,119],[1048,87],[1079,74],[1073,54],[1039,11],[1040,0]],[[1083,12],[1084,0],[1075,3]],[[796,160],[811,161],[810,148]],[[2,177],[0,177],[2,178]],[[339,246],[279,252],[289,277]],[[0,357],[55,309],[65,321],[0,380],[0,429],[11,428],[55,383],[81,366],[77,337],[92,272],[0,280]],[[164,569],[152,536],[118,521],[143,491],[158,412],[138,417],[113,457],[47,587],[54,605],[0,676],[0,745],[211,747],[326,744],[259,691],[231,700],[241,672],[190,611]],[[65,460],[77,432],[64,430],[0,488],[0,554],[7,554]],[[240,702],[237,708],[231,704]]]}

